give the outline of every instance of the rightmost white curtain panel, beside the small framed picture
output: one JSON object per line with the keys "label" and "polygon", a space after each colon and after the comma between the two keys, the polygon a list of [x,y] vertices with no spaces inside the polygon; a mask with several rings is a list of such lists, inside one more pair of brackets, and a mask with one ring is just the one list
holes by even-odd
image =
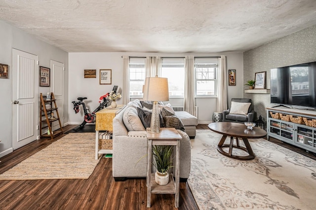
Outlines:
{"label": "rightmost white curtain panel, beside the small framed picture", "polygon": [[218,58],[218,80],[217,80],[217,108],[216,111],[227,109],[227,67],[226,56]]}

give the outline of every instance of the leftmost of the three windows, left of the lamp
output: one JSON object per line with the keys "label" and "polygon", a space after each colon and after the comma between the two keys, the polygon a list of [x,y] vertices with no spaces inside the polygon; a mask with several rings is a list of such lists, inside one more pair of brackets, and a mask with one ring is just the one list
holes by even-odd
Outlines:
{"label": "leftmost of the three windows, left of the lamp", "polygon": [[143,97],[145,58],[129,58],[129,95]]}

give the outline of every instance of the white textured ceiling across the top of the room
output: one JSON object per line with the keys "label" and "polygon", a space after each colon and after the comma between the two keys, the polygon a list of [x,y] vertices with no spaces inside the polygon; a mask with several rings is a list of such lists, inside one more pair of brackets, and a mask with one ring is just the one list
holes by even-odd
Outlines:
{"label": "white textured ceiling across the top of the room", "polygon": [[316,0],[0,0],[0,19],[67,52],[243,52],[316,25]]}

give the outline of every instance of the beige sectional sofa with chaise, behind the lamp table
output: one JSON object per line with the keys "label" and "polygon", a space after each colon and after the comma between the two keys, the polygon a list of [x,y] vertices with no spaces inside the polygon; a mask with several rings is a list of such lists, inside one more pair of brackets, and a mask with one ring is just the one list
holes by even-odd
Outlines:
{"label": "beige sectional sofa with chaise, behind the lamp table", "polygon": [[[146,129],[138,117],[137,107],[142,108],[139,100],[126,105],[113,119],[113,177],[116,181],[126,177],[146,177],[147,169],[147,136]],[[176,113],[185,129],[195,136],[197,118],[189,113]],[[186,181],[191,167],[191,142],[188,134],[177,130],[182,136],[180,140],[180,180]],[[152,170],[155,169],[152,167]]]}

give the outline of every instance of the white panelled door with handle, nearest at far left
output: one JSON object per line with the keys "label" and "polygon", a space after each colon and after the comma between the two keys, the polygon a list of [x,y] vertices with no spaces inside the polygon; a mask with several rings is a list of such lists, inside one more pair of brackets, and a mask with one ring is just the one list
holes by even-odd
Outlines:
{"label": "white panelled door with handle, nearest at far left", "polygon": [[12,49],[12,147],[37,139],[38,56]]}

